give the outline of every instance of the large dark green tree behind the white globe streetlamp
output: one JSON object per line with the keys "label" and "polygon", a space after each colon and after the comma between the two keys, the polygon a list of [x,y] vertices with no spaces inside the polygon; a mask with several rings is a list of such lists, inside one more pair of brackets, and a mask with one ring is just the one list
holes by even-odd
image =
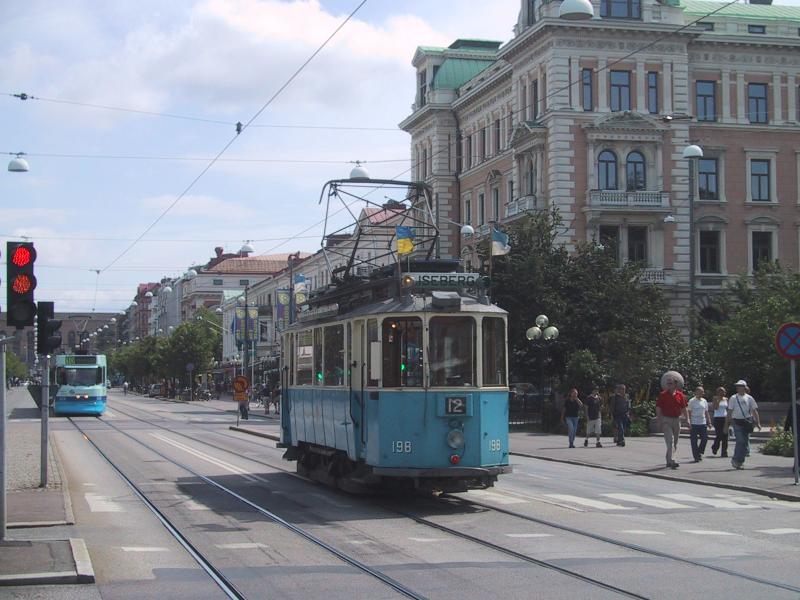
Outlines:
{"label": "large dark green tree behind the white globe streetlamp", "polygon": [[[526,215],[508,227],[511,252],[494,258],[492,301],[509,313],[512,373],[524,380],[542,368],[566,387],[576,385],[568,373],[581,373],[581,385],[591,374],[647,389],[682,347],[660,288],[641,281],[641,266],[620,267],[611,249],[568,252],[556,244],[561,227],[556,210]],[[547,352],[525,337],[537,314],[561,332]]]}

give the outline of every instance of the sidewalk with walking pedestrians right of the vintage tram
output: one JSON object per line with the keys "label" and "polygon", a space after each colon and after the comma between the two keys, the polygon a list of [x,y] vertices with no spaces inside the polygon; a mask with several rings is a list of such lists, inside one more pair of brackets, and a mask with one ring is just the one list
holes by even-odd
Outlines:
{"label": "sidewalk with walking pedestrians right of the vintage tram", "polygon": [[[747,458],[744,469],[736,470],[729,458],[711,454],[710,441],[704,460],[693,463],[689,440],[681,438],[675,456],[680,467],[672,470],[664,467],[666,449],[660,435],[627,438],[626,442],[624,448],[619,448],[610,438],[603,438],[603,448],[595,448],[594,440],[589,440],[589,447],[584,448],[583,439],[578,438],[575,442],[577,447],[568,448],[566,435],[524,432],[509,435],[512,456],[516,454],[646,477],[700,483],[800,502],[800,486],[794,485],[792,473],[793,460],[761,454],[757,444],[753,444],[752,455]],[[733,444],[728,454],[733,454]]]}

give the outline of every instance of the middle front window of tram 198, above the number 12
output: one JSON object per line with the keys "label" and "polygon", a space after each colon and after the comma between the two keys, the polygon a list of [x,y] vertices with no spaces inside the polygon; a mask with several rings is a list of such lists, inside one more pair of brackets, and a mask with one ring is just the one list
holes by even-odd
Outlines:
{"label": "middle front window of tram 198, above the number 12", "polygon": [[431,386],[474,386],[475,319],[434,317],[428,335]]}

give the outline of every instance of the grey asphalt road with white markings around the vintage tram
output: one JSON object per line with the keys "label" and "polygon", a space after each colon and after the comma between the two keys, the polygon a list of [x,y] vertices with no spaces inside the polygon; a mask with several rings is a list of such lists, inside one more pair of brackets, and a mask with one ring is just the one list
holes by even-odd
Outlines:
{"label": "grey asphalt road with white markings around the vintage tram", "polygon": [[[798,504],[527,458],[489,491],[348,496],[234,419],[112,392],[74,422],[247,598],[800,596]],[[73,423],[53,429],[103,598],[224,597]]]}

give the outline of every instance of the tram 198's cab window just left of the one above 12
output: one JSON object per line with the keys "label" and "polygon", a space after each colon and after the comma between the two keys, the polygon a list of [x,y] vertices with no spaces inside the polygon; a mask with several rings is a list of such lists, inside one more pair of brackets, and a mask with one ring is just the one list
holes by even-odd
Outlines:
{"label": "tram 198's cab window just left of the one above 12", "polygon": [[383,322],[383,387],[422,387],[422,321]]}

